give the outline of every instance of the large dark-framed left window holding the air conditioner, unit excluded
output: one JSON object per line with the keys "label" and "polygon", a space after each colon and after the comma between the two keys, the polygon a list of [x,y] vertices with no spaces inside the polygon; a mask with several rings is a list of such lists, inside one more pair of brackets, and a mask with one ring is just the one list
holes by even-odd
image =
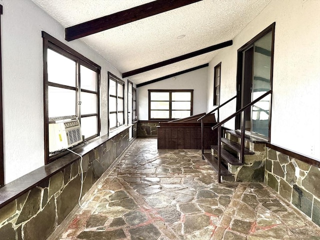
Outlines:
{"label": "large dark-framed left window holding the air conditioner, unit excluded", "polygon": [[84,139],[99,135],[100,66],[42,32],[45,163],[65,154],[49,152],[48,124],[77,118]]}

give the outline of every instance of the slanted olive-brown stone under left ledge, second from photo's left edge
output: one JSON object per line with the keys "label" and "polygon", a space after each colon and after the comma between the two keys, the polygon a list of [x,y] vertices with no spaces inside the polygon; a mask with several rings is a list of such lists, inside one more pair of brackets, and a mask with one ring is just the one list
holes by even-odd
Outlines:
{"label": "slanted olive-brown stone under left ledge, second from photo's left edge", "polygon": [[37,211],[40,209],[40,202],[41,202],[41,190],[39,188],[33,187],[30,190],[28,198],[26,199],[21,209],[19,217],[16,220],[16,224],[26,221],[30,219],[33,215],[35,215]]}

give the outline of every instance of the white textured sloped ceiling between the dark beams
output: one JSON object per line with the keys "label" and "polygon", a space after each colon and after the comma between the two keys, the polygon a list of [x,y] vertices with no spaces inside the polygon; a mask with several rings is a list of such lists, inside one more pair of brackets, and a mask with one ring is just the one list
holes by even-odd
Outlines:
{"label": "white textured sloped ceiling between the dark beams", "polygon": [[[152,0],[32,1],[68,27]],[[202,0],[80,39],[123,73],[233,39],[269,1]],[[128,78],[136,84],[152,80],[207,63],[216,52]]]}

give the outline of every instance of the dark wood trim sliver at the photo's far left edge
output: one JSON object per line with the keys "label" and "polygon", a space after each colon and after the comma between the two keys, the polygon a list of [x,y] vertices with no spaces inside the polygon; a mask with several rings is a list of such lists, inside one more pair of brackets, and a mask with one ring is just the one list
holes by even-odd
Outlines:
{"label": "dark wood trim sliver at the photo's far left edge", "polygon": [[[2,5],[0,5],[0,16]],[[4,185],[4,164],[3,164],[3,120],[2,120],[2,51],[1,51],[1,17],[0,17],[0,187]]]}

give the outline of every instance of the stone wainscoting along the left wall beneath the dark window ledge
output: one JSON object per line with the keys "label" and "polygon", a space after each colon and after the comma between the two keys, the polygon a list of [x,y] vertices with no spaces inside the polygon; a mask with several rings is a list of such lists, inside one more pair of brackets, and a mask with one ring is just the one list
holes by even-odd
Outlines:
{"label": "stone wainscoting along the left wall beneath the dark window ledge", "polygon": [[[128,133],[125,129],[83,155],[82,196],[127,148]],[[5,204],[0,208],[0,239],[45,240],[78,204],[80,178],[78,159]]]}

